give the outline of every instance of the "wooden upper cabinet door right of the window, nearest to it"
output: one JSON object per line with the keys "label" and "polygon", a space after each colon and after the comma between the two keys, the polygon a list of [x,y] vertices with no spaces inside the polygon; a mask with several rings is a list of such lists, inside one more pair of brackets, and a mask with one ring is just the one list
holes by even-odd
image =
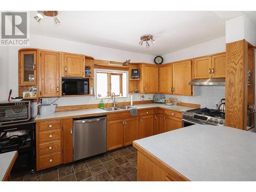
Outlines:
{"label": "wooden upper cabinet door right of the window, nearest to it", "polygon": [[158,66],[143,65],[143,93],[158,93]]}

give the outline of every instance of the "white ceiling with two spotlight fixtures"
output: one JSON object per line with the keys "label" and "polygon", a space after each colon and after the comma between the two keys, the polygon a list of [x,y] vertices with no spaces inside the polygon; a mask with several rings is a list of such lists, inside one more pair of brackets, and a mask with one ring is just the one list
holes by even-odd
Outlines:
{"label": "white ceiling with two spotlight fixtures", "polygon": [[[30,32],[108,48],[163,55],[225,36],[225,20],[246,14],[256,24],[256,11],[59,11],[61,24],[45,17],[40,24],[30,12]],[[155,44],[138,44],[152,34]]]}

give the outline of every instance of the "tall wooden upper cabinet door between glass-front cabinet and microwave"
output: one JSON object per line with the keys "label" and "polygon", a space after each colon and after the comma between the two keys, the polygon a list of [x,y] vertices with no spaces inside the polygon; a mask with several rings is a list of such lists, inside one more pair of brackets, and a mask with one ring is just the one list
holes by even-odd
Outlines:
{"label": "tall wooden upper cabinet door between glass-front cabinet and microwave", "polygon": [[40,52],[38,68],[39,97],[59,97],[60,56],[58,52]]}

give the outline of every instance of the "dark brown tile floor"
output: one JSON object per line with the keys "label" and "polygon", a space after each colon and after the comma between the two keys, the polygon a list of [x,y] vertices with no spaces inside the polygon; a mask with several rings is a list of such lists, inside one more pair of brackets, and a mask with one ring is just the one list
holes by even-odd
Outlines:
{"label": "dark brown tile floor", "polygon": [[30,172],[11,173],[11,181],[136,181],[137,150],[132,145],[102,156]]}

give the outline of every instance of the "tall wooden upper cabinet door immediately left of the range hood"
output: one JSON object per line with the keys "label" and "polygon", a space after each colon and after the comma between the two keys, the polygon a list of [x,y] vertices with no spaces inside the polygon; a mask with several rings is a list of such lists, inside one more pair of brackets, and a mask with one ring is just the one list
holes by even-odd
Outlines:
{"label": "tall wooden upper cabinet door immediately left of the range hood", "polygon": [[173,63],[173,94],[192,95],[191,60]]}

